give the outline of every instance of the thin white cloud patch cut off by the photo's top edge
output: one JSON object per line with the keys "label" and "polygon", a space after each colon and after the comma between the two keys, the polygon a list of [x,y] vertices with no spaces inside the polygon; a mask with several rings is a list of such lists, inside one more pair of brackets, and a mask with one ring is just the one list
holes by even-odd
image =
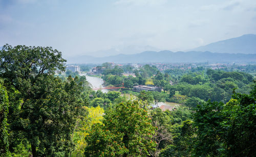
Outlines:
{"label": "thin white cloud patch cut off by the photo's top edge", "polygon": [[156,6],[163,5],[167,2],[167,0],[117,0],[115,5],[135,5],[135,6]]}

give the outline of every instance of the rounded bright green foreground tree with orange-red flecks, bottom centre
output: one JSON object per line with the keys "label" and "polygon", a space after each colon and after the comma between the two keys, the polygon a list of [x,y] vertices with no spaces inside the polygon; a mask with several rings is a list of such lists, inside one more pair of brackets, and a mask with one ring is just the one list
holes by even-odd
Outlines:
{"label": "rounded bright green foreground tree with orange-red flecks, bottom centre", "polygon": [[107,111],[103,125],[93,125],[89,136],[86,156],[146,156],[154,150],[151,124],[147,110],[139,101],[120,103]]}

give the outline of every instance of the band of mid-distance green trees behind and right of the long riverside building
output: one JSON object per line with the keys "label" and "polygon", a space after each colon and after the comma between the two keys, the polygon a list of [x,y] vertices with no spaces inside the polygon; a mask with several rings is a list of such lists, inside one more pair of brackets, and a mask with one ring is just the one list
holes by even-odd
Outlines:
{"label": "band of mid-distance green trees behind and right of the long riverside building", "polygon": [[206,70],[202,66],[189,71],[166,70],[163,74],[157,70],[156,66],[146,64],[133,71],[136,77],[122,76],[123,72],[123,69],[115,66],[113,69],[106,70],[102,78],[106,85],[121,86],[124,83],[128,89],[139,84],[162,87],[164,93],[158,95],[164,97],[165,101],[182,104],[192,97],[226,103],[231,98],[233,89],[238,93],[249,94],[254,79],[252,75],[245,72]]}

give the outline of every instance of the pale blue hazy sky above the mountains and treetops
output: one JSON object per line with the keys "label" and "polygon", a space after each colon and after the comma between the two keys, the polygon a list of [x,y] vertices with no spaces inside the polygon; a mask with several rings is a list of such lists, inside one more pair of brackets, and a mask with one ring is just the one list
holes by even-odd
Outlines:
{"label": "pale blue hazy sky above the mountains and treetops", "polygon": [[188,50],[256,34],[255,0],[0,0],[0,46],[64,56],[125,46]]}

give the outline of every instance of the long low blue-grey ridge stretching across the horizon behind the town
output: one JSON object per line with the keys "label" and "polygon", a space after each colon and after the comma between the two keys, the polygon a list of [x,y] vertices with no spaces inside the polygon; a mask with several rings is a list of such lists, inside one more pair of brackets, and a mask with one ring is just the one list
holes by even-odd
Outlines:
{"label": "long low blue-grey ridge stretching across the horizon behind the town", "polygon": [[256,54],[228,54],[211,52],[172,52],[145,51],[132,55],[114,55],[108,57],[76,56],[66,58],[68,63],[149,63],[149,62],[255,62]]}

